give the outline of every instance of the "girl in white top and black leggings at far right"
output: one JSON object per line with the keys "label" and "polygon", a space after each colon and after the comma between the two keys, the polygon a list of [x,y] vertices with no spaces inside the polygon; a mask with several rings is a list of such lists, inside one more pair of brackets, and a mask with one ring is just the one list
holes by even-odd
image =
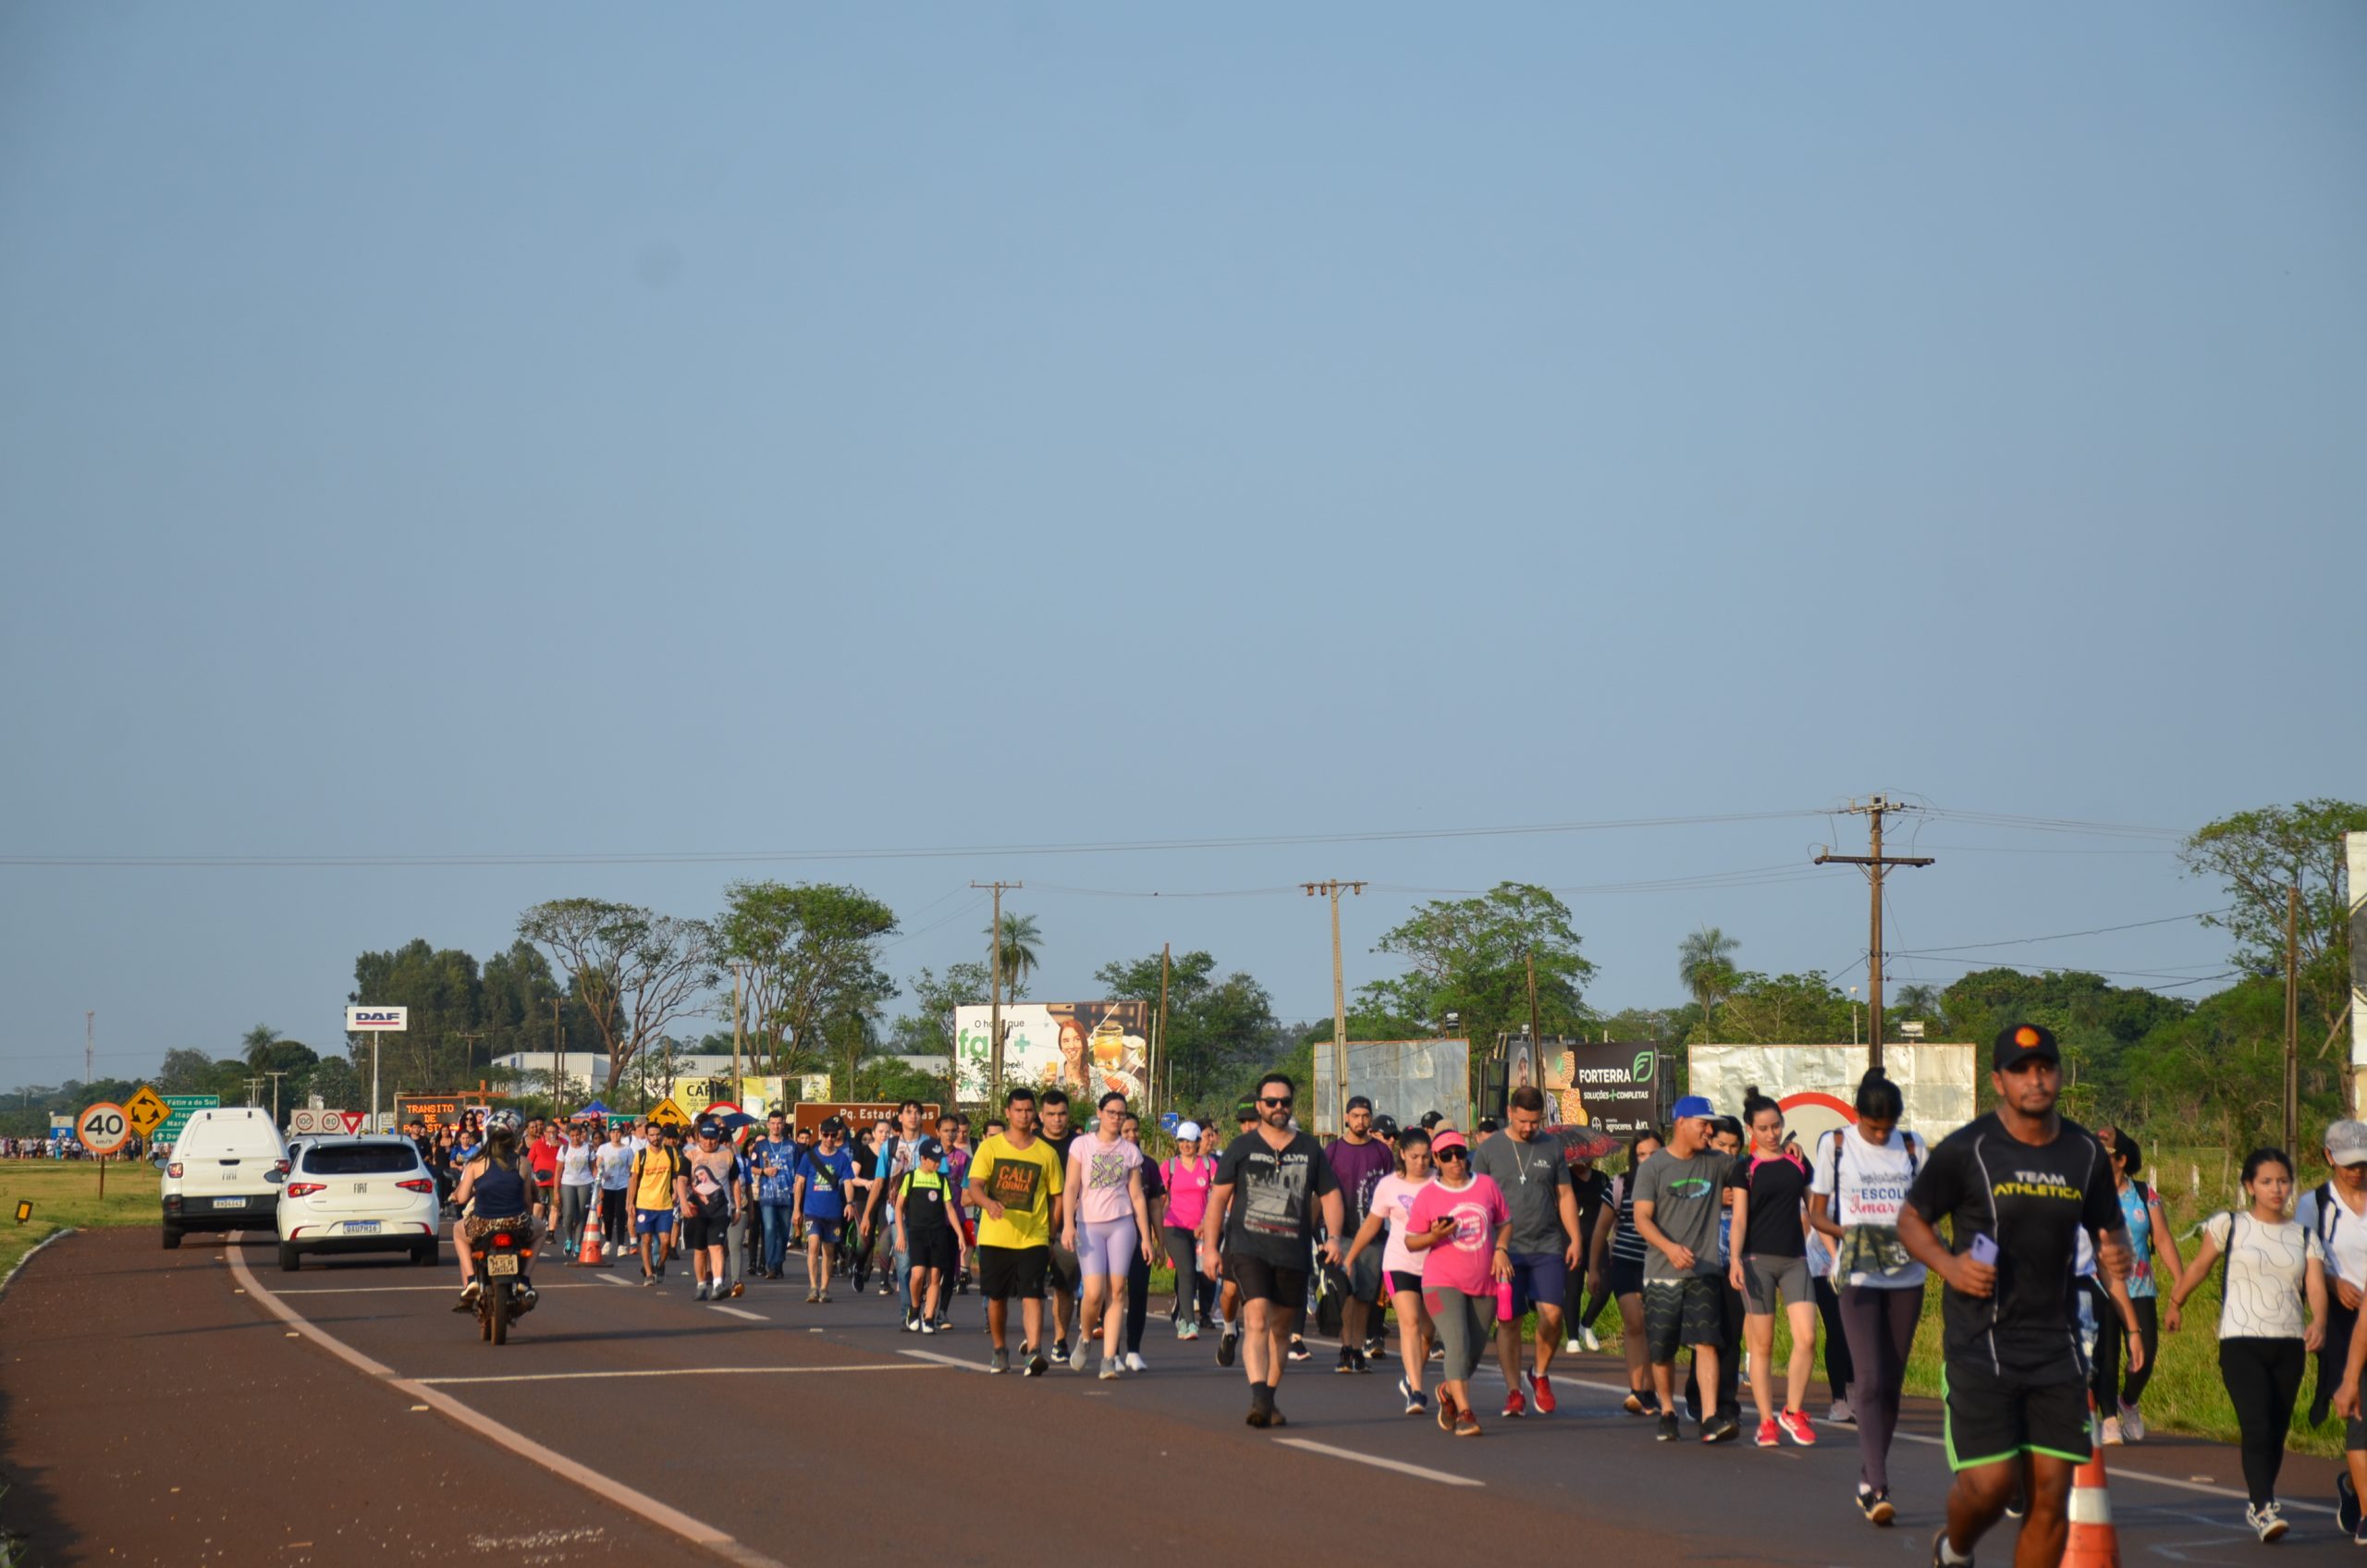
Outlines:
{"label": "girl in white top and black leggings at far right", "polygon": [[2251,1492],[2244,1521],[2272,1542],[2284,1535],[2277,1469],[2301,1395],[2301,1367],[2324,1336],[2327,1251],[2315,1232],[2284,1217],[2294,1161],[2282,1149],[2253,1149],[2244,1158],[2244,1196],[2251,1199],[2246,1213],[2227,1210],[2204,1222],[2204,1244],[2171,1303],[2185,1305],[2225,1258],[2218,1267],[2220,1381],[2244,1433],[2244,1490]]}

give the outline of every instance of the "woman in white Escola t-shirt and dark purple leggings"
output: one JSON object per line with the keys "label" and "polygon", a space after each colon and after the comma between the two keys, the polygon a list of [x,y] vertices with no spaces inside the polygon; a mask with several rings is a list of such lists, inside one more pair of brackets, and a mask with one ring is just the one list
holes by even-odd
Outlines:
{"label": "woman in white Escola t-shirt and dark purple leggings", "polygon": [[1853,1374],[1846,1397],[1858,1419],[1858,1511],[1886,1525],[1896,1518],[1891,1433],[1924,1286],[1924,1267],[1898,1241],[1898,1210],[1931,1151],[1898,1125],[1905,1099],[1882,1068],[1858,1080],[1856,1108],[1853,1125],[1815,1142],[1808,1222],[1832,1246],[1832,1286],[1842,1296]]}

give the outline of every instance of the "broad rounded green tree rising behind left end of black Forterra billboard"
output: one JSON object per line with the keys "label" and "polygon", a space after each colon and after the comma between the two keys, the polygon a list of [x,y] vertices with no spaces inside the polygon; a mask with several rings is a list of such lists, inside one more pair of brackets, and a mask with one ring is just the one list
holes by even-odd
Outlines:
{"label": "broad rounded green tree rising behind left end of black Forterra billboard", "polygon": [[1569,907],[1546,888],[1505,881],[1482,898],[1432,900],[1380,938],[1411,966],[1356,992],[1361,1018],[1389,1018],[1423,1035],[1460,1014],[1482,1052],[1529,1023],[1529,957],[1536,957],[1539,1026],[1567,1035],[1586,1023],[1581,988],[1595,966],[1579,957]]}

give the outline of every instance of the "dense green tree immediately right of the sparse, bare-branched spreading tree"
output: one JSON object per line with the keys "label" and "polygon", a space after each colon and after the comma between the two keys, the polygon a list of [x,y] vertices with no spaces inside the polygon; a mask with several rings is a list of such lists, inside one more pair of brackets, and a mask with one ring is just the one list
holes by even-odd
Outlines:
{"label": "dense green tree immediately right of the sparse, bare-branched spreading tree", "polygon": [[895,910],[836,883],[736,881],[715,921],[717,950],[741,966],[741,1007],[755,1054],[776,1071],[810,1054],[807,1030],[850,997],[892,995],[878,943]]}

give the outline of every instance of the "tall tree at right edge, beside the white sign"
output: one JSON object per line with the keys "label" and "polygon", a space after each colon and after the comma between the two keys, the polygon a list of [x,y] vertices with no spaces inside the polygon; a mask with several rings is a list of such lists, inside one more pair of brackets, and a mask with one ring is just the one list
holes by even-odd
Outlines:
{"label": "tall tree at right edge, beside the white sign", "polygon": [[2204,924],[2234,938],[2232,959],[2251,976],[2284,976],[2287,888],[2301,888],[2301,1007],[2324,1026],[2320,1059],[2331,1056],[2350,1016],[2343,834],[2362,831],[2367,805],[2298,801],[2206,822],[2178,850],[2189,876],[2218,879],[2234,900]]}

